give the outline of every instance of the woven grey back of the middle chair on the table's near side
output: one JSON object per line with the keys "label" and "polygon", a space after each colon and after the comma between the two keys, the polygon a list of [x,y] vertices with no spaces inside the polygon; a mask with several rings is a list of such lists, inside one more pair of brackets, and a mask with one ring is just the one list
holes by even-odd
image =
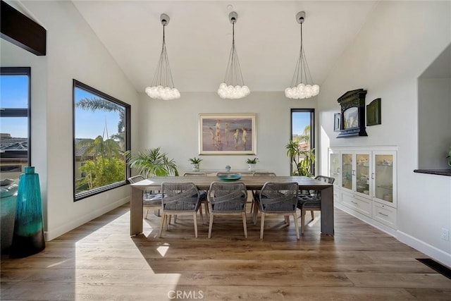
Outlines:
{"label": "woven grey back of the middle chair on the table's near side", "polygon": [[245,183],[214,181],[210,184],[207,196],[212,212],[246,211],[247,189]]}

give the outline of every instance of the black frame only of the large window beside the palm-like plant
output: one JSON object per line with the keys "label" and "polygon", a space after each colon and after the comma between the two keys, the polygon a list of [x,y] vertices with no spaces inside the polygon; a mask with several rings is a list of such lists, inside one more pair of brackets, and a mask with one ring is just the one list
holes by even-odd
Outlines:
{"label": "black frame only of the large window beside the palm-like plant", "polygon": [[131,146],[131,111],[132,111],[132,107],[130,104],[127,104],[125,102],[122,102],[119,99],[116,99],[114,97],[111,97],[109,94],[106,94],[104,92],[101,92],[93,87],[90,87],[89,85],[86,85],[78,80],[73,80],[73,89],[72,89],[72,104],[73,104],[73,109],[72,109],[72,121],[73,121],[73,133],[72,133],[72,137],[73,137],[73,155],[72,155],[72,162],[73,162],[73,201],[74,202],[78,202],[81,199],[85,199],[87,197],[92,197],[94,195],[98,195],[102,192],[106,192],[109,190],[112,190],[114,188],[118,188],[118,187],[122,187],[124,185],[128,185],[128,178],[130,178],[131,176],[131,169],[130,167],[125,163],[125,179],[123,181],[120,182],[116,182],[116,183],[112,183],[109,185],[105,185],[99,188],[94,188],[92,190],[89,190],[87,192],[82,192],[82,193],[75,193],[75,180],[76,180],[76,137],[75,137],[75,89],[82,89],[85,90],[86,92],[92,93],[92,94],[96,94],[97,96],[108,100],[109,102],[113,102],[114,104],[118,104],[120,106],[123,106],[125,108],[125,145],[124,145],[124,151],[125,152],[130,152],[130,146]]}

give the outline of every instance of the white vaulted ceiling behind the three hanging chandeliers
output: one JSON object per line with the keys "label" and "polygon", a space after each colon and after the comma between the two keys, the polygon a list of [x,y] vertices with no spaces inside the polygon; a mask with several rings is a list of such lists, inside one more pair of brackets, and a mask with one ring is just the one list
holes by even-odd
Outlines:
{"label": "white vaulted ceiling behind the three hanging chandeliers", "polygon": [[[290,85],[306,12],[304,49],[321,83],[352,42],[376,1],[73,1],[138,92],[154,77],[162,42],[161,13],[175,87],[214,92],[223,81],[232,42],[228,13],[238,13],[235,46],[251,91]],[[230,8],[232,6],[232,8]]]}

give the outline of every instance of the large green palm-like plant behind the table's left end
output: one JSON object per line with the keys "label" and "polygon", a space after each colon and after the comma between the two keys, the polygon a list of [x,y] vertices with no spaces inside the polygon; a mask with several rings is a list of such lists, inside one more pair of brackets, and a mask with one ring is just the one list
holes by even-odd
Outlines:
{"label": "large green palm-like plant behind the table's left end", "polygon": [[125,157],[127,158],[128,166],[137,168],[144,178],[178,176],[178,169],[174,159],[169,159],[166,153],[161,152],[160,147],[145,149],[137,154],[127,152]]}

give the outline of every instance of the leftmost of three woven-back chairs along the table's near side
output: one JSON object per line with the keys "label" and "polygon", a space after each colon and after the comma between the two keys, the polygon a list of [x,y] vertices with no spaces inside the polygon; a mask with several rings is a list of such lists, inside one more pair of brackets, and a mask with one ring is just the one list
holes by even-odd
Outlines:
{"label": "leftmost of three woven-back chairs along the table's near side", "polygon": [[[168,219],[171,215],[191,214],[194,220],[194,235],[197,238],[197,211],[200,207],[200,195],[194,183],[161,183],[161,193],[163,194],[162,218],[160,235],[166,221],[166,231],[168,231]],[[202,213],[200,215],[203,221]]]}

